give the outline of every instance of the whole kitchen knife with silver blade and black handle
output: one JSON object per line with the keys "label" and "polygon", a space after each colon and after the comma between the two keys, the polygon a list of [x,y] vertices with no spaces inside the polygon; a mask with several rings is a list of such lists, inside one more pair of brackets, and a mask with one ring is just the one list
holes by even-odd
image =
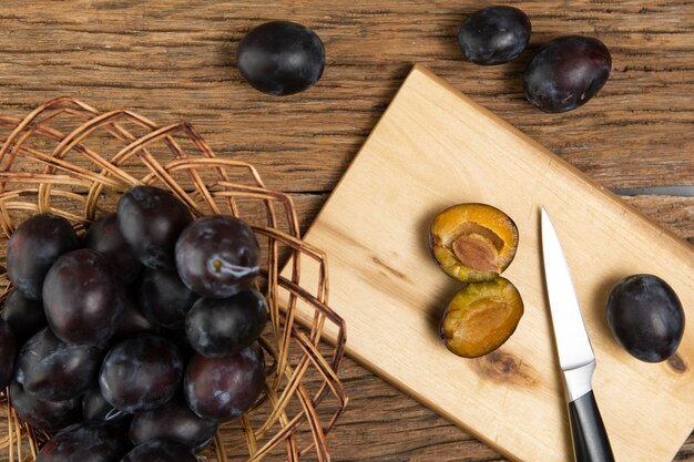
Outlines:
{"label": "whole kitchen knife with silver blade and black handle", "polygon": [[614,462],[610,440],[593,394],[595,355],[585,331],[559,237],[544,207],[541,214],[544,281],[559,365],[564,378],[573,455],[576,462]]}

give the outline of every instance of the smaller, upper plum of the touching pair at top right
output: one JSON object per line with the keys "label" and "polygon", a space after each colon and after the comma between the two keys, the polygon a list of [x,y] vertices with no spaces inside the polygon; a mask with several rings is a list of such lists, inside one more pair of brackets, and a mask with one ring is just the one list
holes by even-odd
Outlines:
{"label": "smaller, upper plum of the touching pair at top right", "polygon": [[476,64],[502,64],[518,58],[530,40],[528,16],[513,7],[488,7],[470,14],[458,30],[463,57]]}

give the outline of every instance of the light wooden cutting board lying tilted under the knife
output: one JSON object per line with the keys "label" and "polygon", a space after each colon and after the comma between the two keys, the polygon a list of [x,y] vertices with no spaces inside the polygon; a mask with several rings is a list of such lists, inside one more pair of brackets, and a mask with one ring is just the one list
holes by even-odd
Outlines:
{"label": "light wooden cutting board lying tilted under the knife", "polygon": [[[458,358],[439,341],[441,311],[460,284],[439,270],[427,244],[433,216],[466,202],[504,211],[520,233],[503,276],[525,312],[511,339],[479,359]],[[692,247],[421,66],[305,236],[328,256],[329,305],[347,321],[348,353],[511,460],[572,461],[541,274],[540,205],[574,278],[616,460],[671,461],[694,427]],[[302,286],[312,287],[317,268],[302,265]],[[641,362],[611,337],[608,292],[636,273],[664,278],[685,307],[671,361]],[[397,429],[397,412],[391,419]]]}

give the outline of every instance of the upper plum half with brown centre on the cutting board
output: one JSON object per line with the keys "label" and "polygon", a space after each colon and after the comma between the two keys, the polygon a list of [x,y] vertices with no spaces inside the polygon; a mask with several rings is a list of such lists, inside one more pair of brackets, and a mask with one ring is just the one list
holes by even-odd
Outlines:
{"label": "upper plum half with brown centre on the cutting board", "polygon": [[429,247],[441,269],[463,283],[492,280],[513,260],[518,227],[487,204],[458,204],[436,216]]}

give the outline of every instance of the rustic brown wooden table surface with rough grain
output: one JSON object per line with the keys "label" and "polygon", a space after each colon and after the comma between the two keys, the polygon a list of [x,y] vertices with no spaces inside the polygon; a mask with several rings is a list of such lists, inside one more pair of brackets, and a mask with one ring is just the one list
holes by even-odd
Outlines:
{"label": "rustic brown wooden table surface with rough grain", "polygon": [[[694,3],[523,2],[533,35],[510,64],[460,58],[456,32],[473,1],[2,2],[0,112],[24,115],[58,95],[126,107],[159,123],[191,121],[220,156],[252,162],[288,192],[305,230],[415,62],[615,188],[694,184]],[[644,7],[644,4],[647,4]],[[251,28],[312,27],[327,65],[312,90],[271,97],[235,68]],[[561,34],[600,38],[610,81],[586,106],[547,115],[522,94],[531,52]],[[694,198],[625,199],[694,244]],[[330,433],[334,461],[503,461],[503,456],[350,359],[350,403]],[[694,461],[694,434],[677,461]]]}

